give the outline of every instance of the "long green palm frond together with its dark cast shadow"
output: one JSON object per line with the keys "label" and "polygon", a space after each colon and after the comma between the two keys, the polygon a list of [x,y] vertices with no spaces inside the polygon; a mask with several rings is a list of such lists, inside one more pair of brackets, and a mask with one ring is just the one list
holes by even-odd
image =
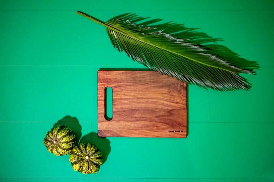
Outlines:
{"label": "long green palm frond together with its dark cast shadow", "polygon": [[153,71],[220,91],[251,88],[239,74],[255,74],[257,62],[242,59],[225,46],[202,45],[221,39],[195,32],[183,24],[168,22],[149,26],[161,19],[137,24],[147,18],[135,14],[119,15],[102,22],[86,13],[77,13],[104,25],[114,48]]}

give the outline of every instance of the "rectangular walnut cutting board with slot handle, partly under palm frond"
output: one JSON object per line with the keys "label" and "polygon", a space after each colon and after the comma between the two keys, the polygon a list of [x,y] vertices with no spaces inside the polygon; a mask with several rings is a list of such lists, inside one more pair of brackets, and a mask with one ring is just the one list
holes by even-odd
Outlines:
{"label": "rectangular walnut cutting board with slot handle, partly under palm frond", "polygon": [[[105,89],[112,88],[112,119],[105,118]],[[153,71],[98,71],[98,135],[187,136],[187,85]]]}

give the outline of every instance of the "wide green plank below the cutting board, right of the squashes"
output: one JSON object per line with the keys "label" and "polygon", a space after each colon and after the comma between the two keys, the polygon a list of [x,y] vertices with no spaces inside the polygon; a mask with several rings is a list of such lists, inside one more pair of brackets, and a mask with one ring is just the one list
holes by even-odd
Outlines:
{"label": "wide green plank below the cutting board, right of the squashes", "polygon": [[274,123],[189,123],[185,139],[94,135],[93,143],[110,143],[111,151],[93,178],[273,178],[273,128]]}

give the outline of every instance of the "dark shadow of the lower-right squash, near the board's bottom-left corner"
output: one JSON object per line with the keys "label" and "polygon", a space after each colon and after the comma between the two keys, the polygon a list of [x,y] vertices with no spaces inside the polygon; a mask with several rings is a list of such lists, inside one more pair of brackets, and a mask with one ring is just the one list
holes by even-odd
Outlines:
{"label": "dark shadow of the lower-right squash, near the board's bottom-left corner", "polygon": [[98,136],[97,133],[95,132],[91,132],[89,134],[84,135],[80,142],[84,142],[84,143],[92,143],[94,145],[96,145],[102,152],[103,154],[103,160],[104,163],[107,160],[107,156],[111,151],[111,146],[110,146],[110,141],[108,139],[106,139],[106,137],[100,137]]}

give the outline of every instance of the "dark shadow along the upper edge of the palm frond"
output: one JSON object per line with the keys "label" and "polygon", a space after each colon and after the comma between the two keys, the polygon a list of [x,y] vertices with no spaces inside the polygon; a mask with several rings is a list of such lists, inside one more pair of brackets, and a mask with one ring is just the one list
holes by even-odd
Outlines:
{"label": "dark shadow along the upper edge of the palm frond", "polygon": [[[130,17],[133,18],[134,16]],[[147,19],[147,18],[143,18]],[[142,19],[140,19],[142,20]],[[166,22],[162,24],[155,24],[157,22],[163,21],[163,19],[152,19],[146,22],[142,22],[143,33],[153,33],[155,31],[162,31],[167,34],[172,34],[173,37],[178,39],[186,40],[186,42],[194,43],[197,46],[201,46],[206,49],[208,54],[213,54],[225,59],[238,67],[245,69],[259,69],[259,64],[257,61],[249,61],[247,59],[241,58],[240,55],[230,50],[224,45],[217,44],[219,41],[224,41],[221,38],[213,38],[207,35],[205,32],[198,32],[196,30],[200,28],[189,28],[184,24],[177,24],[174,22]],[[155,24],[155,25],[154,25]],[[151,27],[149,29],[149,27]],[[185,42],[185,43],[186,43]],[[212,44],[216,43],[216,44]]]}

